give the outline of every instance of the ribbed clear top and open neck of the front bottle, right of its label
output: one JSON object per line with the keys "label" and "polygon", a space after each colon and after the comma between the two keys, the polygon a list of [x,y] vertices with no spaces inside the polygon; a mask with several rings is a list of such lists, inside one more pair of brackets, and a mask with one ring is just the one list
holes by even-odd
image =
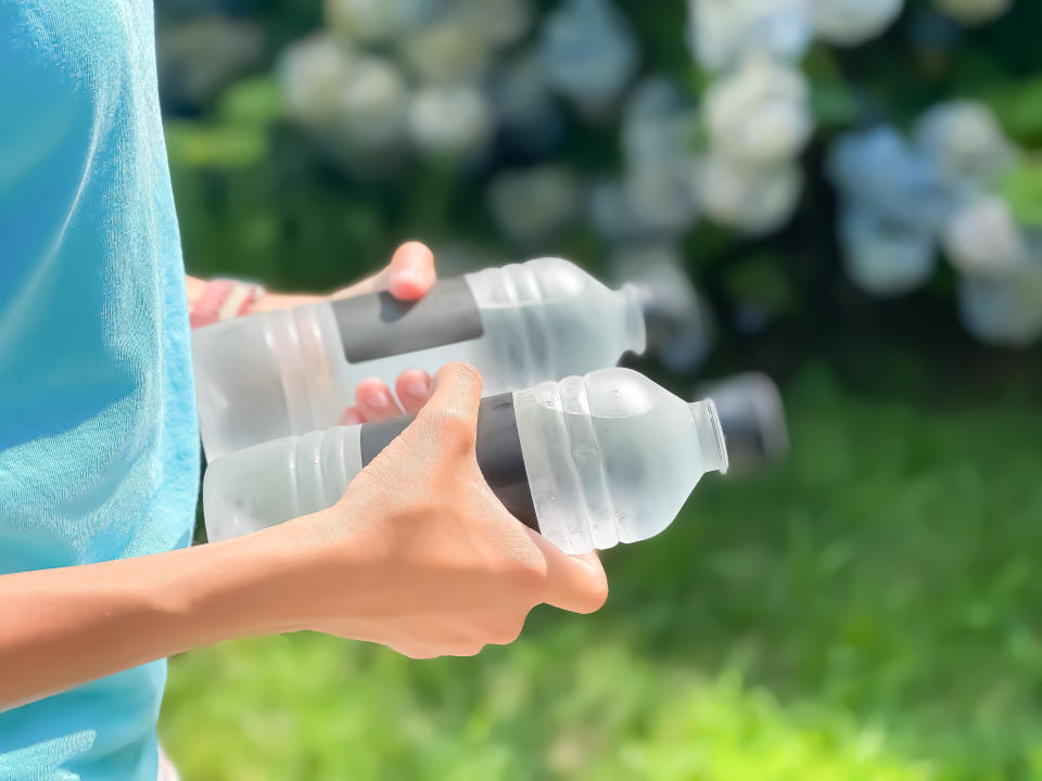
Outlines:
{"label": "ribbed clear top and open neck of the front bottle, right of its label", "polygon": [[539,383],[514,410],[539,532],[568,553],[657,535],[702,474],[727,469],[712,401],[628,369]]}

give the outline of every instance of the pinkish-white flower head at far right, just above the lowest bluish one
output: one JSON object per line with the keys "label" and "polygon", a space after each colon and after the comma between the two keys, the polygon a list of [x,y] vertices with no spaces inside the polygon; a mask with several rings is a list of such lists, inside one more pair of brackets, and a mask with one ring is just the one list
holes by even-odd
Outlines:
{"label": "pinkish-white flower head at far right, just above the lowest bluish one", "polygon": [[960,271],[1011,276],[1028,261],[1027,240],[1009,205],[984,195],[956,209],[941,234],[949,260]]}

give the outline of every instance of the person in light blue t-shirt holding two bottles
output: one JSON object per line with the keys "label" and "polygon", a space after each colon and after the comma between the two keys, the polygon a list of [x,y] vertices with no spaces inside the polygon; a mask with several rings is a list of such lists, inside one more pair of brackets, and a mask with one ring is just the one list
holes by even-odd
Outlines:
{"label": "person in light blue t-shirt holding two bottles", "polygon": [[[465,364],[399,380],[415,422],[334,507],[188,547],[188,290],[208,285],[185,278],[151,0],[0,0],[0,778],[160,778],[164,660],[199,645],[315,630],[465,655],[536,604],[601,605],[598,561],[482,479]],[[361,290],[416,297],[433,277],[411,243]],[[369,383],[346,414],[390,397]]]}

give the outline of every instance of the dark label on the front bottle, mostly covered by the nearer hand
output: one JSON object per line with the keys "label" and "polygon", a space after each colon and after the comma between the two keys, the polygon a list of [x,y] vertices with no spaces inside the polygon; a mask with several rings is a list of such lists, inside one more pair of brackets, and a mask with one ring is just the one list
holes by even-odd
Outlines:
{"label": "dark label on the front bottle, mostly covered by the nearer hand", "polygon": [[[359,437],[361,465],[368,465],[411,422],[411,418],[398,418],[363,425]],[[513,412],[513,394],[505,393],[481,400],[476,452],[481,474],[499,501],[518,521],[538,532],[539,524],[535,518],[535,504],[532,502],[529,475],[521,453],[518,419]]]}

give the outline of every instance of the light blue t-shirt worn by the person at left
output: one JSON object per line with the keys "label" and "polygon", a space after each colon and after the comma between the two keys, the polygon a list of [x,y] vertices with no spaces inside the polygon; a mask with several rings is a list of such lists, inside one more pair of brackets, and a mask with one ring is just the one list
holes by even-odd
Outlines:
{"label": "light blue t-shirt worn by the person at left", "polygon": [[[0,0],[0,574],[188,545],[195,426],[152,0]],[[0,714],[0,779],[154,781],[165,678]]]}

